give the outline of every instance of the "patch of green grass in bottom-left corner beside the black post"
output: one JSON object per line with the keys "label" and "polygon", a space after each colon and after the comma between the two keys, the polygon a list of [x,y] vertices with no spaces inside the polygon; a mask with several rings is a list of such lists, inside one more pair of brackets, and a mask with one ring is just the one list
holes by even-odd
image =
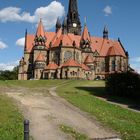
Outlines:
{"label": "patch of green grass in bottom-left corner beside the black post", "polygon": [[23,139],[23,116],[13,100],[0,94],[0,140]]}

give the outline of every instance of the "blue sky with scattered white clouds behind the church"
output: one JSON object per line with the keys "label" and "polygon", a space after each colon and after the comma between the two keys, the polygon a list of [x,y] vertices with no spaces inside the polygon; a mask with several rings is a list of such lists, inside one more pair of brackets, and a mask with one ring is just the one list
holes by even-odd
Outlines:
{"label": "blue sky with scattered white clouds behind the church", "polygon": [[[77,0],[82,26],[92,36],[120,38],[129,52],[130,65],[140,72],[140,0]],[[11,70],[23,56],[25,30],[36,32],[42,18],[46,31],[55,31],[57,17],[67,15],[69,0],[0,0],[0,70]]]}

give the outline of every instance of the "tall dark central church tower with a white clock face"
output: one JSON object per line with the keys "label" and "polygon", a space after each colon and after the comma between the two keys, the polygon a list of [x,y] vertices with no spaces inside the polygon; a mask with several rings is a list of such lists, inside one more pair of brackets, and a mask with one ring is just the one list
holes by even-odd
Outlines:
{"label": "tall dark central church tower with a white clock face", "polygon": [[81,22],[78,13],[77,0],[69,0],[67,26],[68,33],[81,35]]}

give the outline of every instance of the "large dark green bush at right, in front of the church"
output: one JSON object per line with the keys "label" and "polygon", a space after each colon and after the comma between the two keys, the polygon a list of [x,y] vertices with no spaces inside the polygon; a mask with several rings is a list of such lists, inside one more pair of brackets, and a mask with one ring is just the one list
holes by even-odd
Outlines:
{"label": "large dark green bush at right, in front of the church", "polygon": [[106,90],[112,95],[140,97],[140,75],[134,72],[111,74],[106,79]]}

